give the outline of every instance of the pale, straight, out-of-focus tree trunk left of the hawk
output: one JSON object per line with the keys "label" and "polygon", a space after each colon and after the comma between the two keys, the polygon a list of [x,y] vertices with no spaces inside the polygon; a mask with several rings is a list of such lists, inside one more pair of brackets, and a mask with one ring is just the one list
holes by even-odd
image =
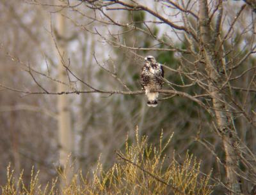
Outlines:
{"label": "pale, straight, out-of-focus tree trunk left of the hawk", "polygon": [[[67,52],[66,51],[66,45],[65,41],[63,40],[63,37],[66,35],[66,29],[67,24],[65,24],[65,17],[62,15],[65,15],[65,9],[57,13],[56,18],[56,32],[58,34],[58,79],[61,82],[69,83],[67,71],[65,69],[65,66],[67,66]],[[63,66],[65,65],[65,66]],[[68,86],[64,85],[62,83],[58,83],[58,91],[68,91]],[[60,167],[61,170],[65,168],[65,166],[70,162],[70,158],[68,157],[70,153],[72,152],[72,146],[73,146],[73,134],[71,129],[71,117],[70,117],[70,101],[68,99],[68,96],[61,95],[58,96],[58,139],[59,139],[59,145],[60,145]],[[68,161],[69,160],[69,161]],[[71,177],[72,177],[72,171],[68,170],[68,167],[65,168],[65,180],[61,178],[61,186],[63,187],[65,185],[64,182],[67,182],[67,184],[70,183]]]}

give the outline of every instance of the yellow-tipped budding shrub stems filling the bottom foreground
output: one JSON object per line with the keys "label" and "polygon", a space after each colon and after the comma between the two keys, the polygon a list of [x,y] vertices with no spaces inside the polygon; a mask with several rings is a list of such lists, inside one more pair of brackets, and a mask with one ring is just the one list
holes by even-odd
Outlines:
{"label": "yellow-tipped budding shrub stems filling the bottom foreground", "polygon": [[116,152],[118,161],[109,170],[98,163],[92,178],[79,171],[63,187],[59,187],[58,180],[66,179],[65,170],[42,189],[39,171],[32,169],[31,181],[24,185],[22,173],[15,180],[8,166],[2,194],[211,194],[210,175],[200,174],[200,162],[193,155],[187,154],[182,165],[164,155],[171,138],[163,144],[162,133],[159,145],[154,147],[136,131],[136,143],[129,145],[126,141],[124,153]]}

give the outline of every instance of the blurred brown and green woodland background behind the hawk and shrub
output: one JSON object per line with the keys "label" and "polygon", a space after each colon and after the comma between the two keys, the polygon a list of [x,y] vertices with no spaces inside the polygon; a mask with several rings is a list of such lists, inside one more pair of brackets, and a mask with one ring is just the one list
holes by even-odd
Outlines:
{"label": "blurred brown and green woodland background behind the hawk and shrub", "polygon": [[[127,135],[129,143],[134,141],[138,126],[152,144],[159,142],[161,129],[163,140],[174,132],[165,154],[182,162],[188,151],[202,160],[202,173],[212,170],[214,194],[232,192],[216,122],[216,111],[223,111],[236,132],[232,147],[239,159],[237,175],[243,193],[250,192],[256,173],[255,13],[243,1],[206,2],[209,33],[215,39],[211,55],[221,61],[217,71],[223,78],[213,82],[200,34],[204,21],[199,22],[199,5],[205,2],[0,1],[0,181],[4,184],[11,162],[15,173],[24,169],[25,180],[35,166],[46,185],[69,152],[76,170],[93,170],[99,155],[109,168],[116,160],[115,149],[124,150]],[[58,27],[61,21],[65,29]],[[163,93],[153,110],[143,95],[100,92],[140,91],[145,55],[164,64],[164,89],[186,92],[204,106]],[[211,89],[225,97],[216,98],[225,102],[224,110],[214,108]],[[60,109],[63,98],[67,106]],[[61,111],[67,110],[69,116],[60,120]],[[58,127],[67,127],[68,121],[72,132],[62,134],[67,141],[60,141]],[[66,150],[68,141],[73,144]]]}

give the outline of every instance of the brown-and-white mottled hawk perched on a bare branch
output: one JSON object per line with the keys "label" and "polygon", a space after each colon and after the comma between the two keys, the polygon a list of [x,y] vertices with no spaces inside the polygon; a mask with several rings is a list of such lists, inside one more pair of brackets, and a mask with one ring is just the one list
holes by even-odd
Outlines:
{"label": "brown-and-white mottled hawk perched on a bare branch", "polygon": [[152,55],[145,57],[145,64],[141,69],[141,85],[148,98],[148,106],[157,106],[159,92],[154,90],[162,89],[164,70]]}

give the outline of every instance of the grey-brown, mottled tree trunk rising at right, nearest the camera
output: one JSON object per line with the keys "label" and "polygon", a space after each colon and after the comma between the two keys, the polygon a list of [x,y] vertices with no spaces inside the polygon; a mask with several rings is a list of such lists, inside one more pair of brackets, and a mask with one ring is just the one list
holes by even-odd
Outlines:
{"label": "grey-brown, mottled tree trunk rising at right, nearest the camera", "polygon": [[[236,173],[239,173],[238,157],[236,154],[236,132],[232,126],[232,120],[228,115],[227,101],[225,96],[221,93],[221,85],[225,82],[225,76],[220,75],[220,69],[223,67],[221,64],[222,54],[217,54],[215,51],[215,43],[212,36],[216,36],[216,32],[211,33],[211,26],[209,20],[209,12],[207,0],[199,1],[199,18],[200,18],[200,38],[203,48],[203,55],[206,62],[207,74],[210,78],[209,90],[212,97],[212,106],[215,111],[216,124],[221,134],[223,141],[223,148],[225,151],[225,170],[228,180],[228,187],[232,190],[231,194],[241,194],[240,180]],[[212,34],[212,35],[211,35]]]}

